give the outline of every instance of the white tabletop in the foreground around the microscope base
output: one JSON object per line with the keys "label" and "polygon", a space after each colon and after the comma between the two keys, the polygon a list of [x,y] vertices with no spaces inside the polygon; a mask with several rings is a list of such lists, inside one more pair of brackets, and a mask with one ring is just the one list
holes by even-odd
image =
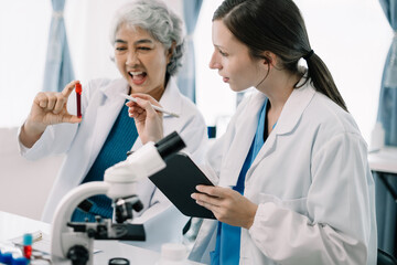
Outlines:
{"label": "white tabletop in the foreground around the microscope base", "polygon": [[[32,233],[37,230],[50,234],[51,225],[0,211],[0,242],[7,242],[11,239],[21,236],[24,233]],[[95,241],[94,248],[101,251],[100,253],[94,254],[95,265],[107,265],[111,257],[128,258],[130,264],[154,265],[160,258],[160,253],[124,244],[118,241]],[[200,265],[201,263],[189,261],[187,264]]]}

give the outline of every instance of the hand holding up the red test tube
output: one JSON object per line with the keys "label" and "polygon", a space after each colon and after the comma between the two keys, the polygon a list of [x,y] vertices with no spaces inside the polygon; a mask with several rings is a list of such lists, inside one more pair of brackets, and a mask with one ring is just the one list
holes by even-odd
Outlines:
{"label": "hand holding up the red test tube", "polygon": [[31,112],[24,123],[20,140],[25,147],[32,147],[49,125],[82,121],[67,112],[67,98],[79,81],[73,81],[62,92],[40,92],[33,100]]}

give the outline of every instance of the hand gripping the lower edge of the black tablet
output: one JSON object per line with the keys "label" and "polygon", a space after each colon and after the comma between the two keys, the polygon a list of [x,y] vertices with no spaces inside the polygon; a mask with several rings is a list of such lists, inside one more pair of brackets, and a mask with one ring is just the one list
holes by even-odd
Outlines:
{"label": "hand gripping the lower edge of the black tablet", "polygon": [[258,209],[257,204],[227,188],[197,186],[196,190],[201,193],[192,193],[192,198],[197,204],[212,211],[218,221],[250,229]]}

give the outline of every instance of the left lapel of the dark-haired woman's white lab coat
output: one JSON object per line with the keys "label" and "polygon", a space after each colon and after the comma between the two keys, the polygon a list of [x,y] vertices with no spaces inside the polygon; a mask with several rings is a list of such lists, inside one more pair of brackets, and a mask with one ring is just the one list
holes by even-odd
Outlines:
{"label": "left lapel of the dark-haired woman's white lab coat", "polygon": [[[224,159],[221,171],[219,186],[234,187],[237,184],[239,172],[248,155],[249,148],[258,126],[259,112],[264,106],[266,96],[262,93],[254,93],[247,102],[243,113],[238,114],[236,120],[236,132],[230,148]],[[237,109],[238,112],[239,109]]]}

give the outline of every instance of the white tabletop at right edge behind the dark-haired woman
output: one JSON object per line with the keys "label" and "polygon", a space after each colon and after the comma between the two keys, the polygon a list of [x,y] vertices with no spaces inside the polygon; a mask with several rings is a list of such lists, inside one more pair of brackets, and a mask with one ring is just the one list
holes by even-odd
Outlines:
{"label": "white tabletop at right edge behind the dark-haired woman", "polygon": [[372,171],[397,173],[397,147],[385,147],[376,152],[368,153]]}

